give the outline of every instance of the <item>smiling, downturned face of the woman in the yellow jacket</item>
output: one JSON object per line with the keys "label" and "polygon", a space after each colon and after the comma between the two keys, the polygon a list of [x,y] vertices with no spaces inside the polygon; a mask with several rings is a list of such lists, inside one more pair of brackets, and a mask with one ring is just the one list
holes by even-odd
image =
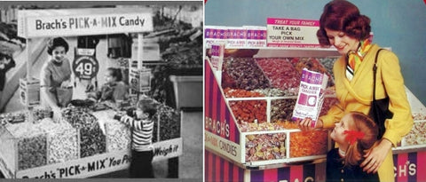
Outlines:
{"label": "smiling, downturned face of the woman in the yellow jacket", "polygon": [[330,44],[335,46],[337,51],[340,54],[345,56],[348,51],[357,51],[359,46],[359,40],[356,38],[352,38],[351,36],[347,36],[342,31],[331,30],[325,28],[327,32],[328,41]]}

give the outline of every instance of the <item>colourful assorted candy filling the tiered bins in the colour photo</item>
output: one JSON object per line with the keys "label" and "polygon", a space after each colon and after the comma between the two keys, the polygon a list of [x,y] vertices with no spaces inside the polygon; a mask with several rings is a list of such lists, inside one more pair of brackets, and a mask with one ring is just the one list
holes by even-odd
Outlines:
{"label": "colourful assorted candy filling the tiered bins in the colour photo", "polygon": [[[247,162],[327,154],[327,131],[288,131],[299,129],[291,117],[304,67],[329,75],[326,93],[334,94],[332,76],[319,59],[225,59],[222,86],[239,128],[242,132],[268,131],[246,136]],[[335,97],[327,97],[321,115],[336,102]],[[290,146],[286,146],[286,139]],[[286,156],[286,147],[289,147],[289,156]]]}

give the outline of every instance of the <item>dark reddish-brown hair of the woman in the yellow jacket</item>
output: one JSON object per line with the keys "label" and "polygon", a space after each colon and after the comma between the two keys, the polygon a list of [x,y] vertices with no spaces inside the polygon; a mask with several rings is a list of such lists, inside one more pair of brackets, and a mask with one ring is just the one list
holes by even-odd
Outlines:
{"label": "dark reddish-brown hair of the woman in the yellow jacket", "polygon": [[367,39],[371,30],[370,19],[360,14],[356,5],[345,0],[333,0],[326,4],[319,18],[317,31],[319,44],[329,46],[331,44],[325,28],[342,31],[345,35],[358,40]]}

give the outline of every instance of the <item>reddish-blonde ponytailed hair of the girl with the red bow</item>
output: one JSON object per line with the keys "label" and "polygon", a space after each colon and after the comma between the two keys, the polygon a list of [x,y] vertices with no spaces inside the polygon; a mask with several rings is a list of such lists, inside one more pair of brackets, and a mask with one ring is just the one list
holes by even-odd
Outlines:
{"label": "reddish-blonde ponytailed hair of the girl with the red bow", "polygon": [[364,133],[363,138],[355,140],[346,150],[344,163],[345,165],[359,165],[364,161],[364,155],[377,145],[377,135],[379,133],[377,124],[368,115],[359,112],[351,112],[349,128],[351,131],[361,131]]}

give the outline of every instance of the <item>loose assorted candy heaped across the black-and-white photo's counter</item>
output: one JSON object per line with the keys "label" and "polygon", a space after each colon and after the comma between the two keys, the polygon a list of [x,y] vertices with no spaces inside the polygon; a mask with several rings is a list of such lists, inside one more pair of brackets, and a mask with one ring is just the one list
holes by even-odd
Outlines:
{"label": "loose assorted candy heaped across the black-and-white photo's counter", "polygon": [[[0,152],[6,163],[16,162],[18,170],[27,170],[130,149],[130,128],[106,113],[114,111],[67,107],[58,121],[51,118],[51,110],[43,108],[2,115]],[[154,116],[153,142],[179,138],[180,115],[176,109],[161,105]],[[21,117],[22,122],[10,121]]]}

